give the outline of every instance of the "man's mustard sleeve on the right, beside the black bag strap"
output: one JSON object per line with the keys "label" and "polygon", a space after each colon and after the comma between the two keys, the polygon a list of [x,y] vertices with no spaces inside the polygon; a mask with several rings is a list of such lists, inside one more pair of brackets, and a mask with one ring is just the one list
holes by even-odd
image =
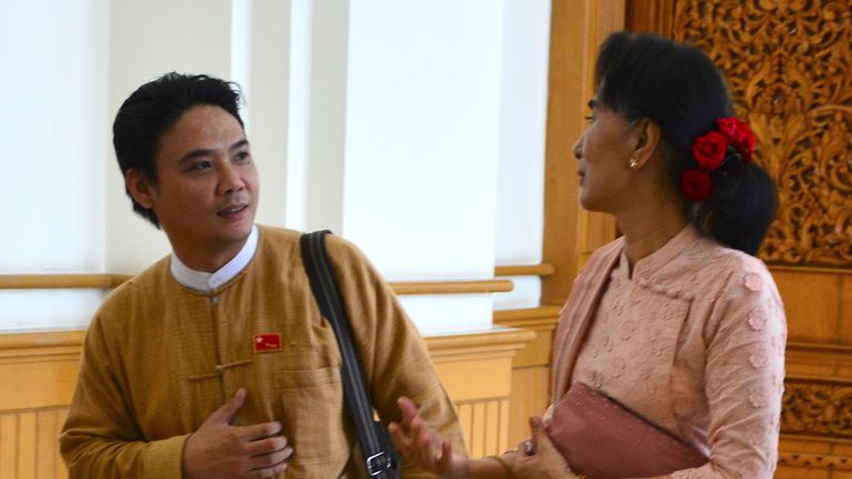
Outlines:
{"label": "man's mustard sleeve on the right, beside the black bag strap", "polygon": [[[352,244],[328,236],[328,253],[341,283],[374,407],[384,422],[402,419],[396,400],[407,396],[453,449],[465,453],[455,406],[432,365],[426,343],[369,262]],[[403,462],[406,478],[433,477]]]}

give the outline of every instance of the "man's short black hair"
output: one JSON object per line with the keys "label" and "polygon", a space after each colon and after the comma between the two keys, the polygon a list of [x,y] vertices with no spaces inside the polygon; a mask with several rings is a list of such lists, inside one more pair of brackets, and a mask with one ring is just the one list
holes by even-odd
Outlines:
{"label": "man's short black hair", "polygon": [[[183,113],[197,105],[221,106],[242,126],[240,103],[240,88],[235,83],[207,75],[171,72],[143,84],[124,101],[112,124],[112,144],[121,174],[133,169],[156,184],[154,156],[163,133]],[[160,227],[160,220],[153,210],[136,203],[126,186],[124,191],[133,202],[133,211]]]}

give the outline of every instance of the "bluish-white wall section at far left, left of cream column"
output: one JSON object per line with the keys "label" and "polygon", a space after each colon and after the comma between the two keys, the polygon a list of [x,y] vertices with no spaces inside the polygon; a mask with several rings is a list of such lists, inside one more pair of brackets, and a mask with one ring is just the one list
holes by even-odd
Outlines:
{"label": "bluish-white wall section at far left, left of cream column", "polygon": [[[101,271],[106,0],[0,2],[0,274]],[[0,330],[81,327],[101,293],[0,291]]]}

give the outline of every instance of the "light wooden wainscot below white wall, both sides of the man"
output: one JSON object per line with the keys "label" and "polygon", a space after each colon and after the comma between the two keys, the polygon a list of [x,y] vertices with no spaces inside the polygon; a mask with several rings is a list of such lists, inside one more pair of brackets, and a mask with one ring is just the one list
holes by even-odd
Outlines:
{"label": "light wooden wainscot below white wall, both sides of the man", "polygon": [[[0,335],[0,479],[65,479],[59,432],[83,332]],[[500,328],[426,339],[475,456],[509,449],[513,356],[536,334]]]}

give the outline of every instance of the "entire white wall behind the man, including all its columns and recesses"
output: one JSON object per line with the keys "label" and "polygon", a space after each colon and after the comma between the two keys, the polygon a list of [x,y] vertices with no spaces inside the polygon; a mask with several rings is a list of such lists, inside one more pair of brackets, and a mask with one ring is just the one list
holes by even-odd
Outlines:
{"label": "entire white wall behind the man, including all its columns and recesses", "polygon": [[[0,240],[13,252],[2,273],[135,273],[168,254],[131,212],[110,126],[135,88],[172,70],[242,83],[260,222],[331,227],[392,281],[490,278],[495,263],[540,259],[549,2],[67,4],[0,7],[20,20],[0,31],[0,61],[26,77],[0,79],[19,112],[0,131],[24,139],[6,143],[26,159],[7,167],[21,180],[10,198],[27,200],[8,223],[18,236]],[[537,303],[536,287],[497,306]],[[100,299],[0,292],[0,330],[83,327]],[[487,294],[403,302],[425,333],[488,328],[495,306]]]}

